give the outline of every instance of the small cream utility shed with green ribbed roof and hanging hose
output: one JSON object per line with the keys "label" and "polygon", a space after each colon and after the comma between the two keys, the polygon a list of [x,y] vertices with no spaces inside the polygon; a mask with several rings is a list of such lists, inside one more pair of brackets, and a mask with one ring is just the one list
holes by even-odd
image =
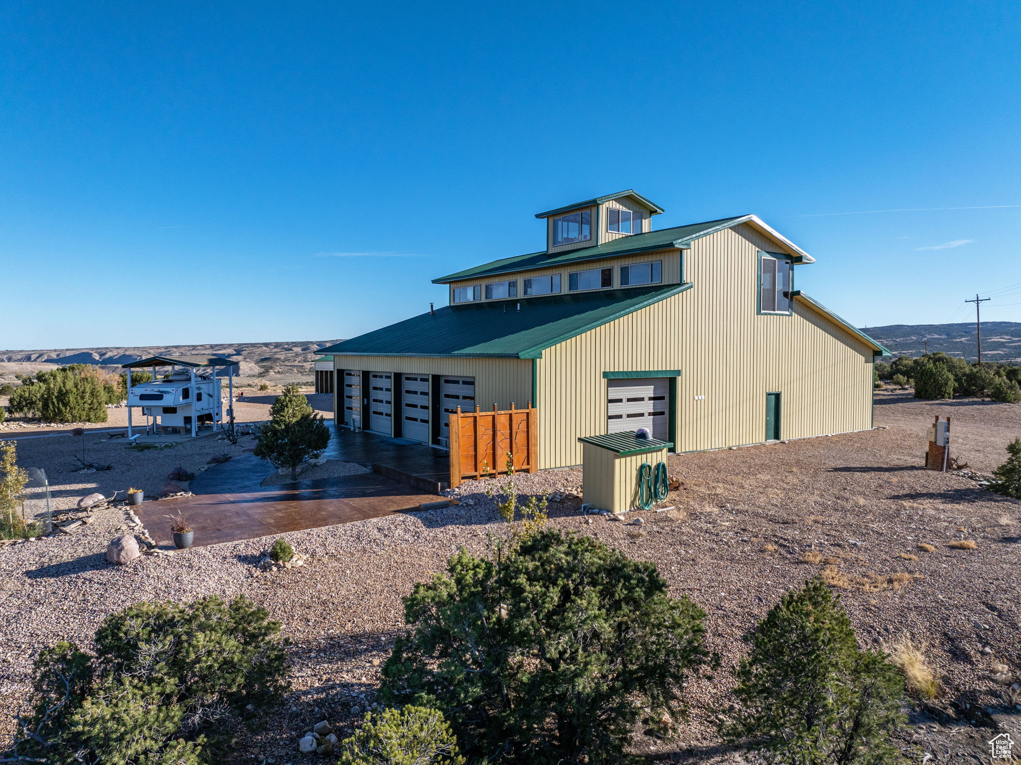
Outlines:
{"label": "small cream utility shed with green ribbed roof and hanging hose", "polygon": [[624,513],[638,508],[638,478],[642,463],[667,462],[670,441],[638,438],[633,430],[585,436],[582,444],[583,500],[596,510]]}

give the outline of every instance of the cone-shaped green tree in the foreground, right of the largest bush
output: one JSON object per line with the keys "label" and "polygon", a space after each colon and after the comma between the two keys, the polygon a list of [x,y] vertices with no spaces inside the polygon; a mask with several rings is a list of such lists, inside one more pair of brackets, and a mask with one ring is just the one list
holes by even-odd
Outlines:
{"label": "cone-shaped green tree in the foreground, right of the largest bush", "polygon": [[735,671],[738,710],[720,732],[776,765],[885,765],[904,724],[904,679],[859,649],[850,620],[819,578],[759,622]]}

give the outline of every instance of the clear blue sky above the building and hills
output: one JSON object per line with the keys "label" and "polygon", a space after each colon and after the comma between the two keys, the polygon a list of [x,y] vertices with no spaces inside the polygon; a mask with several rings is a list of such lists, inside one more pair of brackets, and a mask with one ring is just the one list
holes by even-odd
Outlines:
{"label": "clear blue sky above the building and hills", "polygon": [[994,0],[11,0],[0,348],[351,337],[540,249],[535,212],[627,188],[657,228],[759,214],[860,326],[967,321],[993,290],[983,318],[1021,321],[1019,22]]}

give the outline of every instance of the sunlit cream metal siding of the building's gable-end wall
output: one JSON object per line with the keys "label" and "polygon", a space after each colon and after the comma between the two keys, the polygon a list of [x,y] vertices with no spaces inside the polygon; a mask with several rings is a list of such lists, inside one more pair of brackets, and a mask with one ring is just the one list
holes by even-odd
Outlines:
{"label": "sunlit cream metal siding of the building's gable-end wall", "polygon": [[764,441],[768,391],[782,393],[783,438],[872,427],[872,348],[799,300],[758,315],[760,249],[784,251],[746,226],[695,240],[691,289],[544,350],[541,467],[580,464],[577,438],[606,432],[603,372],[681,371],[678,451]]}

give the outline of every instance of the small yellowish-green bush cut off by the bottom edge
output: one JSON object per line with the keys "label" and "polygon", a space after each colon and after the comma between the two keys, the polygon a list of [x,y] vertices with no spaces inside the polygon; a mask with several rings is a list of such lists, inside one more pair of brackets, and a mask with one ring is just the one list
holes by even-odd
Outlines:
{"label": "small yellowish-green bush cut off by the bottom edge", "polygon": [[435,709],[408,705],[367,714],[340,743],[339,765],[464,765],[457,738]]}

